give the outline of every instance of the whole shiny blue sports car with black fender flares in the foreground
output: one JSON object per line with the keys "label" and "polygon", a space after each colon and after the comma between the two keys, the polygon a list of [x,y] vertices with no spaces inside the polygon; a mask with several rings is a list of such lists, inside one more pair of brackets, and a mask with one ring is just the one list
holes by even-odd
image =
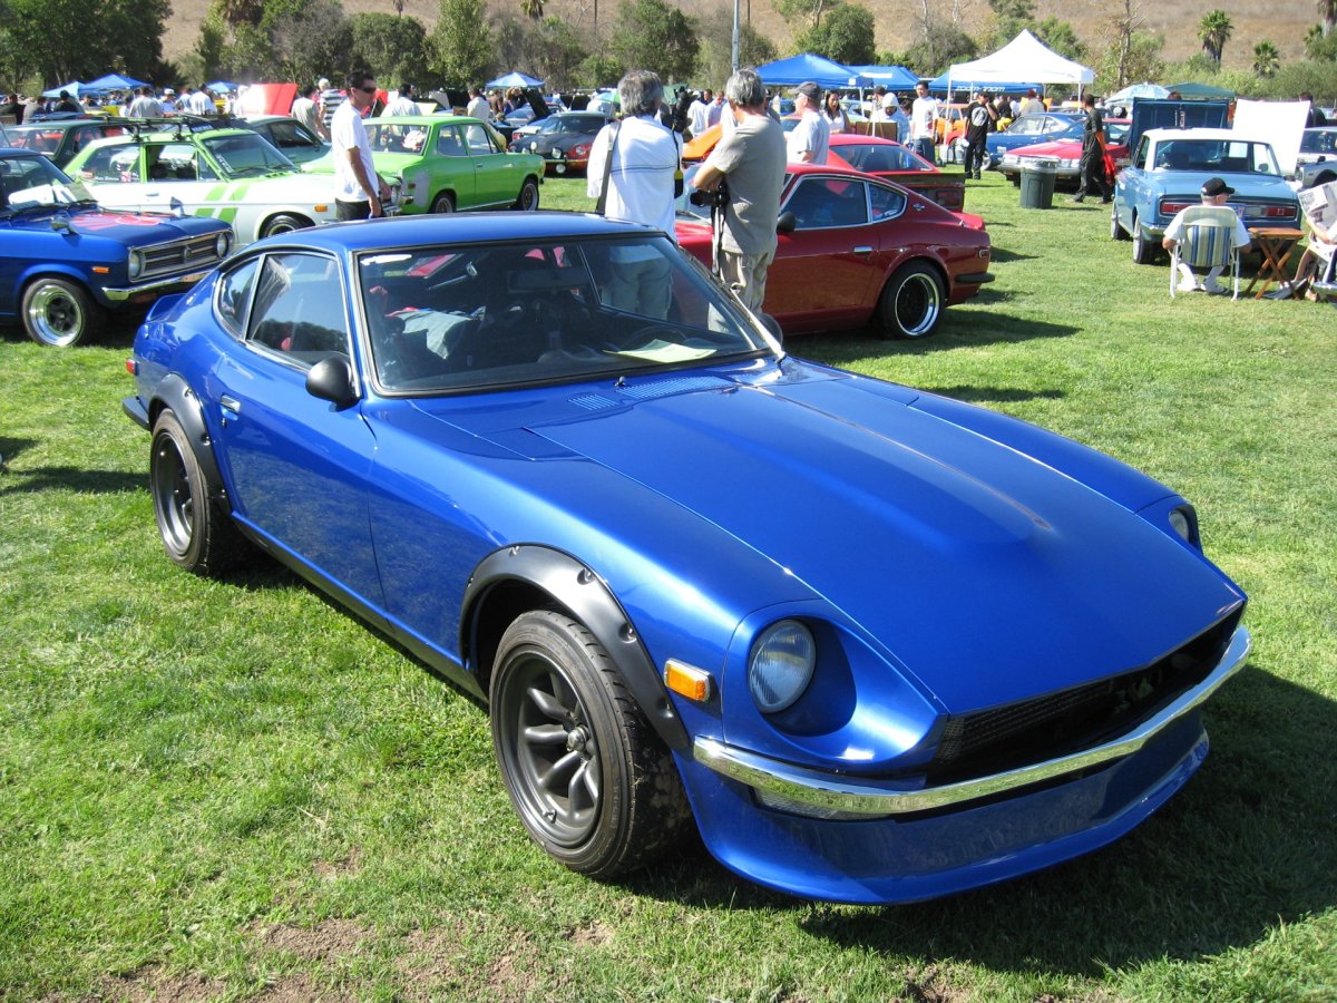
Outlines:
{"label": "whole shiny blue sports car with black fender flares in the foreground", "polygon": [[695,826],[763,885],[906,901],[1132,829],[1249,649],[1194,510],[763,320],[592,215],[333,225],[159,304],[124,408],[167,555],[258,548],[484,701],[578,872]]}

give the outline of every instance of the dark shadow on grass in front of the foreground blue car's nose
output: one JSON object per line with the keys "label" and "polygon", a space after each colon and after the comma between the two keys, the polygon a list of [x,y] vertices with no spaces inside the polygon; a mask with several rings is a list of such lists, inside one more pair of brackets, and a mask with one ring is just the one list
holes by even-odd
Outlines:
{"label": "dark shadow on grass in front of the foreground blue car's nose", "polygon": [[1107,967],[1249,948],[1337,903],[1337,703],[1250,662],[1205,717],[1213,752],[1161,812],[1112,845],[1029,877],[850,908],[787,899],[718,864],[711,877],[701,859],[628,888],[709,908],[792,911],[808,933],[841,947],[1009,972],[1099,978]]}

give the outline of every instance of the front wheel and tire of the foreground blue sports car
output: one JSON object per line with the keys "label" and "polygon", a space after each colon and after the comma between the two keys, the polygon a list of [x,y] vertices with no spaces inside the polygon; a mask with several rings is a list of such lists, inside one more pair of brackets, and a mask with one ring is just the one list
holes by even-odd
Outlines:
{"label": "front wheel and tire of the foreground blue sports car", "polygon": [[551,857],[615,877],[682,839],[691,812],[673,758],[580,623],[519,617],[497,647],[491,705],[511,804]]}

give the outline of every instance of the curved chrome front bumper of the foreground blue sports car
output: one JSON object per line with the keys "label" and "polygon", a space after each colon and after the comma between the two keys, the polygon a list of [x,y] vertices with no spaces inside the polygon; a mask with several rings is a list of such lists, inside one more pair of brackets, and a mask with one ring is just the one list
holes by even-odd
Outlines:
{"label": "curved chrome front bumper of the foreground blue sports car", "polygon": [[1142,749],[1163,730],[1210,697],[1226,679],[1243,667],[1253,638],[1237,627],[1225,654],[1206,679],[1186,690],[1161,713],[1147,718],[1127,734],[1070,756],[1019,766],[988,777],[976,777],[937,788],[897,790],[886,782],[861,781],[771,760],[713,738],[697,738],[693,758],[705,766],[751,788],[832,812],[868,817],[909,814],[951,808],[967,801],[992,797],[1017,788],[1042,784],[1120,760]]}

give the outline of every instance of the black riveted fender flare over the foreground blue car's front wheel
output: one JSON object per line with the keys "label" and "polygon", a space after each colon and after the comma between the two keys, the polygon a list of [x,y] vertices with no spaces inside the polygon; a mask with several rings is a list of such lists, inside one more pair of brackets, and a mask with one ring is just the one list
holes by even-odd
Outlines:
{"label": "black riveted fender flare over the foreground blue car's front wheel", "polygon": [[618,666],[646,719],[670,749],[685,752],[687,729],[674,711],[655,665],[631,618],[608,584],[587,564],[552,547],[516,544],[493,551],[473,570],[464,590],[460,650],[476,653],[481,607],[488,594],[507,582],[524,583],[552,596],[594,634]]}

